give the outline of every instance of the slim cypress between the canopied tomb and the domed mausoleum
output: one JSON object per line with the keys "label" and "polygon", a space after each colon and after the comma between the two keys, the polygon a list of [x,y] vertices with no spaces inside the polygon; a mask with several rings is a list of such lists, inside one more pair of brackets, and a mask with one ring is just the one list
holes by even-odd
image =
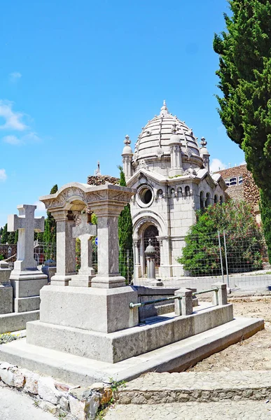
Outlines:
{"label": "slim cypress between the canopied tomb and the domed mausoleum", "polygon": [[[123,167],[120,170],[120,186],[126,187]],[[130,204],[127,204],[118,218],[118,244],[120,246],[120,274],[128,283],[132,281],[132,217]]]}

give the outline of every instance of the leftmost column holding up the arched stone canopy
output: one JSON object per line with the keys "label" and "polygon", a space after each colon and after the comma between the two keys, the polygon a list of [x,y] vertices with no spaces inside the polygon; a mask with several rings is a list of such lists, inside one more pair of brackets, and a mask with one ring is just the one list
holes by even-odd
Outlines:
{"label": "leftmost column holding up the arched stone canopy", "polygon": [[75,227],[75,214],[70,210],[50,210],[57,222],[57,272],[51,278],[55,286],[69,286],[71,276],[76,274],[76,240],[72,229]]}

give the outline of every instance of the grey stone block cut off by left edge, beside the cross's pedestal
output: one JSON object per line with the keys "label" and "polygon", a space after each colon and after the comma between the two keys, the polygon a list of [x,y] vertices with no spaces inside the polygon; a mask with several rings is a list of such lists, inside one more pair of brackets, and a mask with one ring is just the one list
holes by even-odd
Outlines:
{"label": "grey stone block cut off by left edge, beside the cross's pedestal", "polygon": [[13,311],[13,288],[10,276],[11,269],[8,267],[8,262],[0,261],[0,314]]}

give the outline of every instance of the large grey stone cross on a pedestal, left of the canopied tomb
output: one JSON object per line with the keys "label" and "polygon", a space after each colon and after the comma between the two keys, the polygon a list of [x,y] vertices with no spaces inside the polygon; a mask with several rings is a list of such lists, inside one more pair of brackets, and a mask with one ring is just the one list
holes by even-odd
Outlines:
{"label": "large grey stone cross on a pedestal, left of the canopied tomb", "polygon": [[16,214],[8,216],[8,232],[19,230],[14,271],[33,270],[37,268],[34,260],[34,232],[43,232],[44,217],[35,218],[36,206],[21,204],[17,208],[19,216]]}

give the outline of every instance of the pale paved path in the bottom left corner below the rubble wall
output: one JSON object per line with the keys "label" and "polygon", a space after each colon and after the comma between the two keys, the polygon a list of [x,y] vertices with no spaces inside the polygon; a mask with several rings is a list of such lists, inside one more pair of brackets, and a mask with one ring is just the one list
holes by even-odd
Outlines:
{"label": "pale paved path in the bottom left corner below the rubble wall", "polygon": [[10,388],[0,387],[1,420],[56,420],[53,414],[43,412],[34,406],[34,400],[28,395]]}

